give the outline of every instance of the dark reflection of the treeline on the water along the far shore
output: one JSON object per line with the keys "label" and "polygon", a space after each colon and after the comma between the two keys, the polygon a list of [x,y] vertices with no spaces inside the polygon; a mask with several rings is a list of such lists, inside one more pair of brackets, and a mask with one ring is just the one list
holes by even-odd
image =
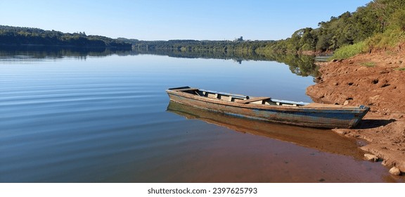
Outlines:
{"label": "dark reflection of the treeline on the water along the far shore", "polygon": [[176,51],[176,50],[116,50],[116,49],[79,49],[49,46],[0,46],[0,61],[18,61],[35,59],[77,58],[105,56],[137,56],[137,55],[169,56],[173,58],[206,58],[233,60],[239,64],[243,61],[276,61],[285,63],[291,72],[302,77],[318,77],[318,67],[314,64],[314,56],[302,56],[283,53],[252,53],[248,51]]}

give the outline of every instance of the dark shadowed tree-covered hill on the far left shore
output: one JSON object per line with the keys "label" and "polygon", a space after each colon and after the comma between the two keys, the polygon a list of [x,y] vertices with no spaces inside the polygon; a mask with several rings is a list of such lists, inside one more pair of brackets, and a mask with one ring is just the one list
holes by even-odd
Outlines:
{"label": "dark shadowed tree-covered hill on the far left shore", "polygon": [[30,27],[0,25],[0,45],[72,46],[80,48],[126,48],[131,44],[102,36],[87,36],[84,32],[63,33]]}

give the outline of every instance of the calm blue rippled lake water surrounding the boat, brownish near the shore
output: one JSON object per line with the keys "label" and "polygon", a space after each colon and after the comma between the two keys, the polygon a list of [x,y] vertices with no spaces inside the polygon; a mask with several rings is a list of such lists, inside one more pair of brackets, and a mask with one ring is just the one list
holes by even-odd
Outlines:
{"label": "calm blue rippled lake water surrounding the boat, brownish near the shore", "polygon": [[165,93],[308,102],[311,84],[270,61],[3,56],[0,182],[402,182],[329,130],[205,114]]}

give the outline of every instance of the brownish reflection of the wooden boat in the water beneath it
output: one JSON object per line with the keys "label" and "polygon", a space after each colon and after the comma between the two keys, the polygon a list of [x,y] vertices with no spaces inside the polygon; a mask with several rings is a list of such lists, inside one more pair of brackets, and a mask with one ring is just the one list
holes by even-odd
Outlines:
{"label": "brownish reflection of the wooden boat in the water beneath it", "polygon": [[290,142],[323,152],[352,156],[359,160],[361,160],[364,154],[355,140],[347,139],[345,136],[335,134],[328,129],[314,129],[259,120],[248,120],[201,110],[174,101],[169,102],[167,111],[184,116],[187,119],[203,120],[210,124],[226,127],[237,132],[266,136],[271,139]]}

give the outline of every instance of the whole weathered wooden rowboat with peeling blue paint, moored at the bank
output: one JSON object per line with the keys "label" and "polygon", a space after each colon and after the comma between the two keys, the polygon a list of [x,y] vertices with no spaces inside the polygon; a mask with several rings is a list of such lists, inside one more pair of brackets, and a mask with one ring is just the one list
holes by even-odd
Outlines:
{"label": "whole weathered wooden rowboat with peeling blue paint, moored at the bank", "polygon": [[229,94],[192,87],[166,90],[171,101],[252,120],[320,128],[350,128],[366,115],[368,106],[341,106],[284,101],[270,97]]}

